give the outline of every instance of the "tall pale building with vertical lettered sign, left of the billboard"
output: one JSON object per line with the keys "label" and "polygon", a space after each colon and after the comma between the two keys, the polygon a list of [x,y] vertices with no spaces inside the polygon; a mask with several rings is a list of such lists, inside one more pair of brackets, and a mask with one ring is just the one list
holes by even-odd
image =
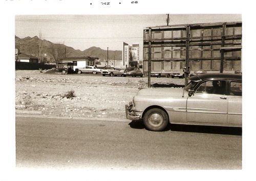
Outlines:
{"label": "tall pale building with vertical lettered sign, left of the billboard", "polygon": [[123,42],[123,65],[125,67],[139,67],[139,44],[129,44]]}

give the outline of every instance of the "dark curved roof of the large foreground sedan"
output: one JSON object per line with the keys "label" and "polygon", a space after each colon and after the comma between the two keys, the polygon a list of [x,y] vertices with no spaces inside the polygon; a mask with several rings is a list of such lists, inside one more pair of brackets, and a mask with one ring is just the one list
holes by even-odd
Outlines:
{"label": "dark curved roof of the large foreground sedan", "polygon": [[240,73],[202,73],[200,75],[190,76],[191,81],[201,81],[207,79],[228,79],[242,81],[242,74]]}

